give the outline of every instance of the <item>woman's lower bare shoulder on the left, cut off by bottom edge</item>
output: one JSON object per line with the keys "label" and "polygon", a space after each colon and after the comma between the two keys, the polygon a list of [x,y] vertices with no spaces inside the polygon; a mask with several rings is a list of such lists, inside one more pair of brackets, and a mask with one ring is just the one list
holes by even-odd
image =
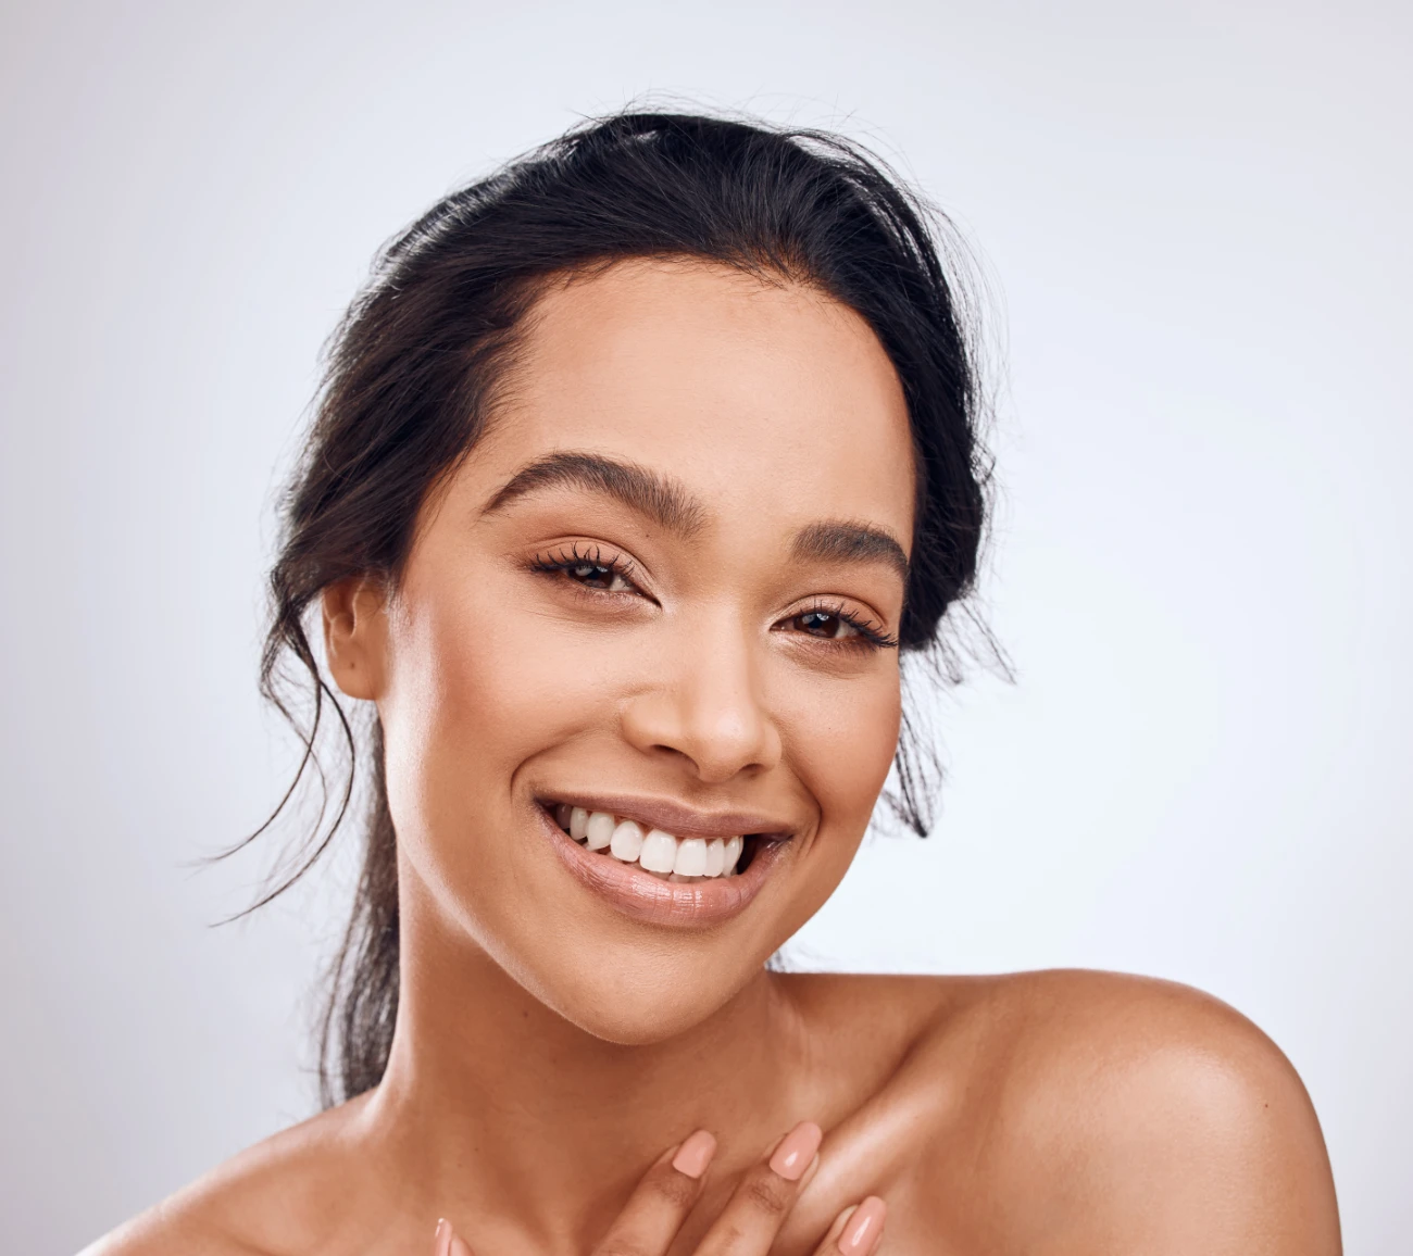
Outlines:
{"label": "woman's lower bare shoulder on the left, cut off by bottom edge", "polygon": [[79,1256],[285,1256],[336,1240],[360,1187],[349,1156],[363,1108],[283,1130],[119,1226]]}

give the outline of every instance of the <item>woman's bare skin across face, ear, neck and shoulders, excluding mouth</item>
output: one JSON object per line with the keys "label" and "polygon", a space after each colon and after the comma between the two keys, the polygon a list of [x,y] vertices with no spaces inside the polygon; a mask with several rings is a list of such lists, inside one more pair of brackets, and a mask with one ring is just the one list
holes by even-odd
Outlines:
{"label": "woman's bare skin across face, ear, neck and shoulders, excluding mouth", "polygon": [[[639,490],[551,473],[504,497],[569,454]],[[1204,995],[764,969],[853,859],[900,718],[897,564],[800,538],[848,524],[906,552],[913,475],[892,363],[829,298],[687,261],[550,288],[397,588],[325,592],[333,680],[377,705],[387,746],[387,1074],[95,1256],[425,1256],[439,1218],[476,1256],[808,1253],[868,1199],[896,1253],[1340,1252],[1300,1079]],[[577,791],[793,836],[738,916],[644,923],[545,838],[540,801]],[[752,1238],[731,1201],[769,1197],[762,1153],[801,1122],[818,1164]],[[661,1157],[695,1132],[714,1159],[673,1197],[680,1226],[598,1246],[634,1190],[682,1177]]]}

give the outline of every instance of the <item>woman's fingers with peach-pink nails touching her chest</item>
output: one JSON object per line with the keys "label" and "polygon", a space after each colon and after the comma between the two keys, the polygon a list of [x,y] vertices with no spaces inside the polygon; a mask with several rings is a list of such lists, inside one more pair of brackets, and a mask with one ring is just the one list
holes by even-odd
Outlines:
{"label": "woman's fingers with peach-pink nails touching her chest", "polygon": [[[797,1125],[740,1180],[694,1256],[767,1256],[780,1226],[820,1163],[820,1126]],[[716,1140],[698,1130],[664,1151],[643,1175],[593,1256],[666,1256],[687,1214],[701,1197]],[[886,1207],[877,1195],[845,1208],[815,1248],[815,1256],[870,1256],[883,1232]],[[437,1224],[435,1256],[472,1256],[451,1222]]]}

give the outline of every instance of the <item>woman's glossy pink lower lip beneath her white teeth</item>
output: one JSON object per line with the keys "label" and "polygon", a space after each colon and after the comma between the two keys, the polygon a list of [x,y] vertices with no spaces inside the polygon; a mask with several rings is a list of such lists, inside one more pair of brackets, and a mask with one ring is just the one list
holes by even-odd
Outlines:
{"label": "woman's glossy pink lower lip beneath her white teeth", "polygon": [[708,928],[740,916],[760,893],[790,845],[788,841],[759,842],[745,872],[684,884],[664,882],[643,872],[636,863],[591,852],[560,828],[543,807],[536,807],[536,812],[554,853],[584,886],[625,916],[644,924],[677,928]]}

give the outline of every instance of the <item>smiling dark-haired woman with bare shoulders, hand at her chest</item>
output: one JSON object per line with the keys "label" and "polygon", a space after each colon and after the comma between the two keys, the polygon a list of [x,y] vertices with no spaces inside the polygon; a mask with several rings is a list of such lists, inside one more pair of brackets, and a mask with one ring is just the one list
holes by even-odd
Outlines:
{"label": "smiling dark-haired woman with bare shoulders, hand at her chest", "polygon": [[93,1250],[1338,1252],[1208,997],[766,966],[972,583],[976,410],[926,215],[831,137],[610,117],[407,230],[273,575],[267,691],[376,712],[328,1108]]}

